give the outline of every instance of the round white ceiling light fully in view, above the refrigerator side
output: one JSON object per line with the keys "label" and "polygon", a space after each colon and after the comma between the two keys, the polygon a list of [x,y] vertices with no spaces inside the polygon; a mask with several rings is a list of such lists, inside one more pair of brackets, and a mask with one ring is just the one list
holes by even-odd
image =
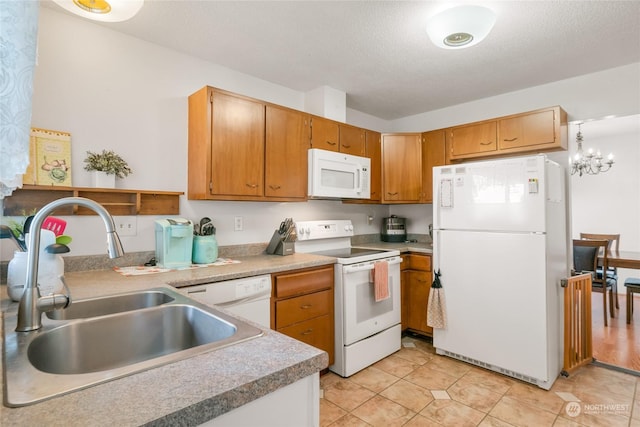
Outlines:
{"label": "round white ceiling light fully in view, above the refrigerator side", "polygon": [[496,23],[496,14],[484,6],[456,6],[432,16],[427,34],[438,47],[460,49],[480,43]]}

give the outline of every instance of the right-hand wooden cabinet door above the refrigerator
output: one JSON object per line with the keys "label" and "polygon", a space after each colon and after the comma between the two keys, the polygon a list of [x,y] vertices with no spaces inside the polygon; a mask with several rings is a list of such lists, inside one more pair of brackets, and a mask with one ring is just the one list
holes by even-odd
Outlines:
{"label": "right-hand wooden cabinet door above the refrigerator", "polygon": [[553,145],[556,141],[554,111],[546,110],[499,120],[498,137],[500,150]]}

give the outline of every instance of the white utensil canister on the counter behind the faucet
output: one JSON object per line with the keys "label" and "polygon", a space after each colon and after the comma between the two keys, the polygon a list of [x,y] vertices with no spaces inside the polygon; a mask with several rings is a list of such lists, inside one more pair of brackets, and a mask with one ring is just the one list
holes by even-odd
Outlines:
{"label": "white utensil canister on the counter behind the faucet", "polygon": [[[27,281],[28,252],[15,251],[7,266],[7,291],[13,301],[20,301]],[[64,275],[64,259],[60,255],[40,253],[38,260],[38,288],[40,295],[62,291],[61,276]]]}

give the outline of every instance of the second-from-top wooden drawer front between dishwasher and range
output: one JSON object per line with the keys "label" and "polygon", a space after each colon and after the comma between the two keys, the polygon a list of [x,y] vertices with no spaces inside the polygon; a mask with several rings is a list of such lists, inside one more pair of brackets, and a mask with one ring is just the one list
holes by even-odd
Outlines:
{"label": "second-from-top wooden drawer front between dishwasher and range", "polygon": [[321,291],[276,301],[276,329],[330,314],[333,293]]}

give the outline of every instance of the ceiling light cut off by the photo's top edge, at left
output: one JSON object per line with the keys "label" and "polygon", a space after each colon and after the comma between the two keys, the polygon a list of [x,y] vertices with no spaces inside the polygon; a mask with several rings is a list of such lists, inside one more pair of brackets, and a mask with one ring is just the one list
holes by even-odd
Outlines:
{"label": "ceiling light cut off by the photo's top edge, at left", "polygon": [[144,0],[53,0],[62,8],[83,18],[120,22],[132,18]]}

